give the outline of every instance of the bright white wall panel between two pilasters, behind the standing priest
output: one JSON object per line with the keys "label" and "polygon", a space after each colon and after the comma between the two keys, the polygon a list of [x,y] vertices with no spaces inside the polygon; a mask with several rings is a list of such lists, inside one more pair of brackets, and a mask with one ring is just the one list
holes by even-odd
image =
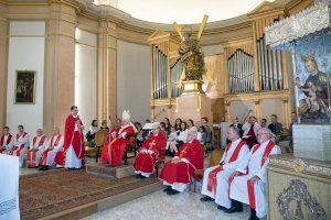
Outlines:
{"label": "bright white wall panel between two pilasters, behind the standing priest", "polygon": [[97,35],[76,29],[75,105],[85,124],[85,133],[97,112]]}

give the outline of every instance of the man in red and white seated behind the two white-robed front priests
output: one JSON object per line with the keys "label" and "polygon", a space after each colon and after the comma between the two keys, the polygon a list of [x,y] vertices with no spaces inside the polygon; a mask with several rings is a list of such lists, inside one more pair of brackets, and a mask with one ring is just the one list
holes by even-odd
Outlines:
{"label": "man in red and white seated behind the two white-robed front priests", "polygon": [[249,148],[257,144],[257,132],[259,128],[256,118],[253,116],[250,116],[248,121],[243,125],[243,140],[246,141]]}

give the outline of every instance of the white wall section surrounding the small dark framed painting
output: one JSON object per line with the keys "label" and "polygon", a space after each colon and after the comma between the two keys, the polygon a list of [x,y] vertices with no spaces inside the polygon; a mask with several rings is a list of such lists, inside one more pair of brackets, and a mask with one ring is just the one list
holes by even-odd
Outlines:
{"label": "white wall section surrounding the small dark framed painting", "polygon": [[[23,124],[32,136],[43,127],[45,22],[11,21],[8,55],[7,125]],[[17,70],[35,70],[34,103],[15,103]]]}

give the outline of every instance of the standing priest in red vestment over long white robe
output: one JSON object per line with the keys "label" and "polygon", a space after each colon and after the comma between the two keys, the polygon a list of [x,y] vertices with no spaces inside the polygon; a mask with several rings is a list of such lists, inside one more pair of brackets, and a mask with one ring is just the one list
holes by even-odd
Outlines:
{"label": "standing priest in red vestment over long white robe", "polygon": [[71,114],[65,120],[63,153],[65,155],[64,167],[70,169],[82,168],[85,158],[83,122],[78,116],[78,108],[73,106]]}

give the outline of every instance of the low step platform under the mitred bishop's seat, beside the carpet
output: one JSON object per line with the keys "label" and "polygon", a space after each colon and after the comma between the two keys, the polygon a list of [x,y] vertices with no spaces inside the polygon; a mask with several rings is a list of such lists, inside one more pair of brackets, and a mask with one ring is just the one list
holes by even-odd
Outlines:
{"label": "low step platform under the mitred bishop's seat, beside the carpet", "polygon": [[107,167],[103,163],[92,163],[86,165],[86,173],[105,177],[124,178],[135,175],[135,169],[132,165]]}

